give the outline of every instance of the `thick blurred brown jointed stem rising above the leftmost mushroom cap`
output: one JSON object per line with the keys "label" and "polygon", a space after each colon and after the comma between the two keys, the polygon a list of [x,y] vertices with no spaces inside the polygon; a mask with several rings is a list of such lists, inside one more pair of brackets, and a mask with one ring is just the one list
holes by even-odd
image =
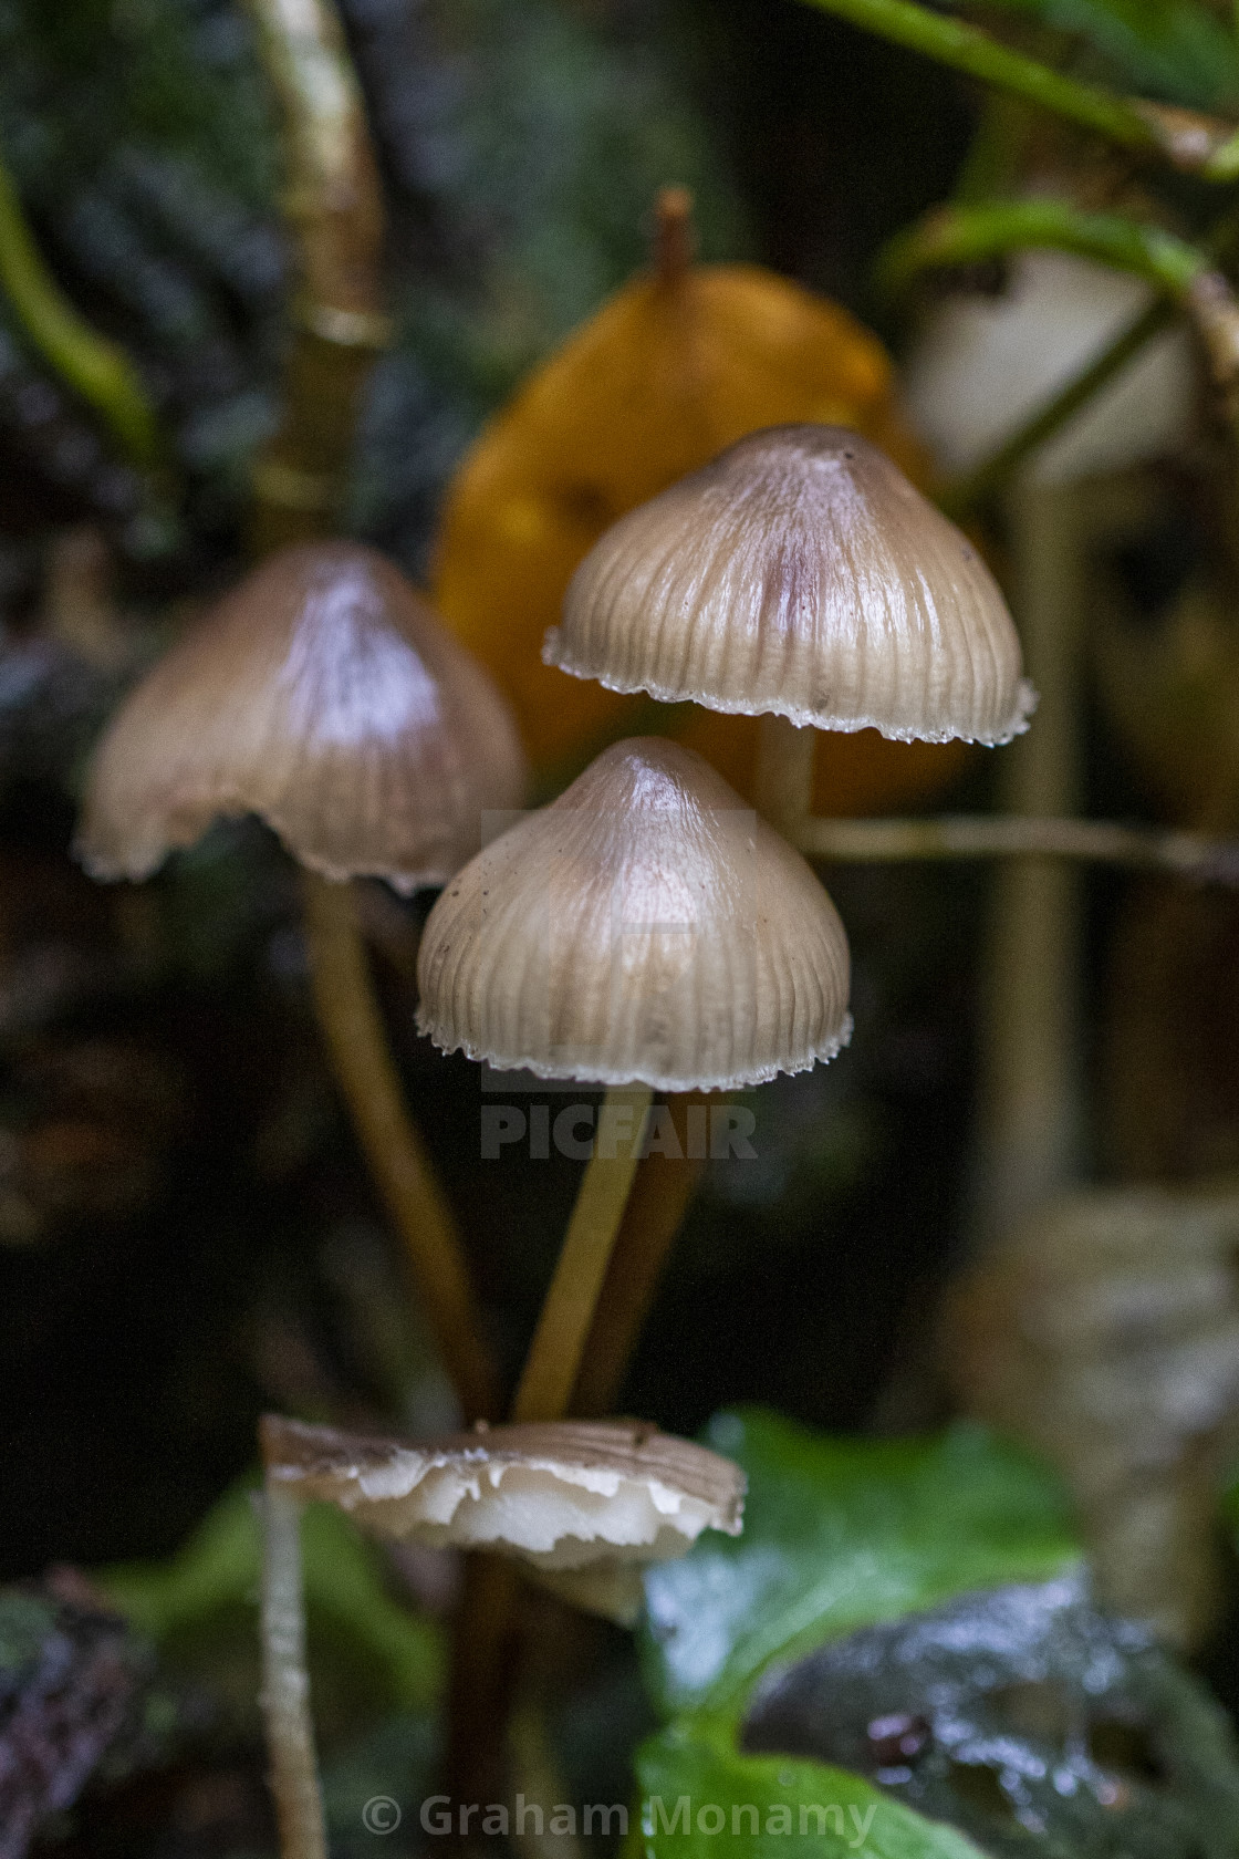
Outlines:
{"label": "thick blurred brown jointed stem rising above the leftmost mushroom cap", "polygon": [[284,139],[297,240],[280,426],[254,467],[253,552],[333,528],[383,314],[383,191],[366,106],[331,0],[247,0]]}

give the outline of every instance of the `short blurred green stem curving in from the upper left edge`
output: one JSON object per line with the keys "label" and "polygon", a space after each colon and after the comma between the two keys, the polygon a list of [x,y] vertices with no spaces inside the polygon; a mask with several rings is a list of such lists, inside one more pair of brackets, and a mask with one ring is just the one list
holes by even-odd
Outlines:
{"label": "short blurred green stem curving in from the upper left edge", "polygon": [[48,271],[0,162],[0,284],[13,314],[48,366],[111,431],[126,457],[154,470],[163,457],[160,422],[128,355],[100,336]]}

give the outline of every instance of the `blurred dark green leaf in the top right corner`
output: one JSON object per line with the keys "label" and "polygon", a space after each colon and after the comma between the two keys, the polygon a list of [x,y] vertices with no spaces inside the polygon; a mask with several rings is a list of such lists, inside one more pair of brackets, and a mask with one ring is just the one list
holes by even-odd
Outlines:
{"label": "blurred dark green leaf in the top right corner", "polygon": [[1194,0],[990,0],[1083,39],[1126,89],[1196,110],[1239,106],[1239,41]]}

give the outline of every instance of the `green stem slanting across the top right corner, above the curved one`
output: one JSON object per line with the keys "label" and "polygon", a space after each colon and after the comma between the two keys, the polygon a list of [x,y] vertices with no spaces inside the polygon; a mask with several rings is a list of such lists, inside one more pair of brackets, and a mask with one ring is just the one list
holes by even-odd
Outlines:
{"label": "green stem slanting across the top right corner, above the curved one", "polygon": [[1135,154],[1155,154],[1206,180],[1239,175],[1239,134],[1213,117],[1139,99],[1115,97],[1014,52],[977,26],[944,19],[912,0],[804,0],[912,52],[1022,97]]}

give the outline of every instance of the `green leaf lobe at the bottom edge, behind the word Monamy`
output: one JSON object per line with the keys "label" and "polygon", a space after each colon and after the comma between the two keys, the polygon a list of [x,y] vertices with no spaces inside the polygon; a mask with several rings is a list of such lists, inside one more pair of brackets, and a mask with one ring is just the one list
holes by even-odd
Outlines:
{"label": "green leaf lobe at the bottom edge, behind the word Monamy", "polygon": [[860,1775],[739,1755],[715,1725],[672,1725],[650,1738],[637,1751],[637,1788],[632,1859],[979,1859],[962,1833]]}

